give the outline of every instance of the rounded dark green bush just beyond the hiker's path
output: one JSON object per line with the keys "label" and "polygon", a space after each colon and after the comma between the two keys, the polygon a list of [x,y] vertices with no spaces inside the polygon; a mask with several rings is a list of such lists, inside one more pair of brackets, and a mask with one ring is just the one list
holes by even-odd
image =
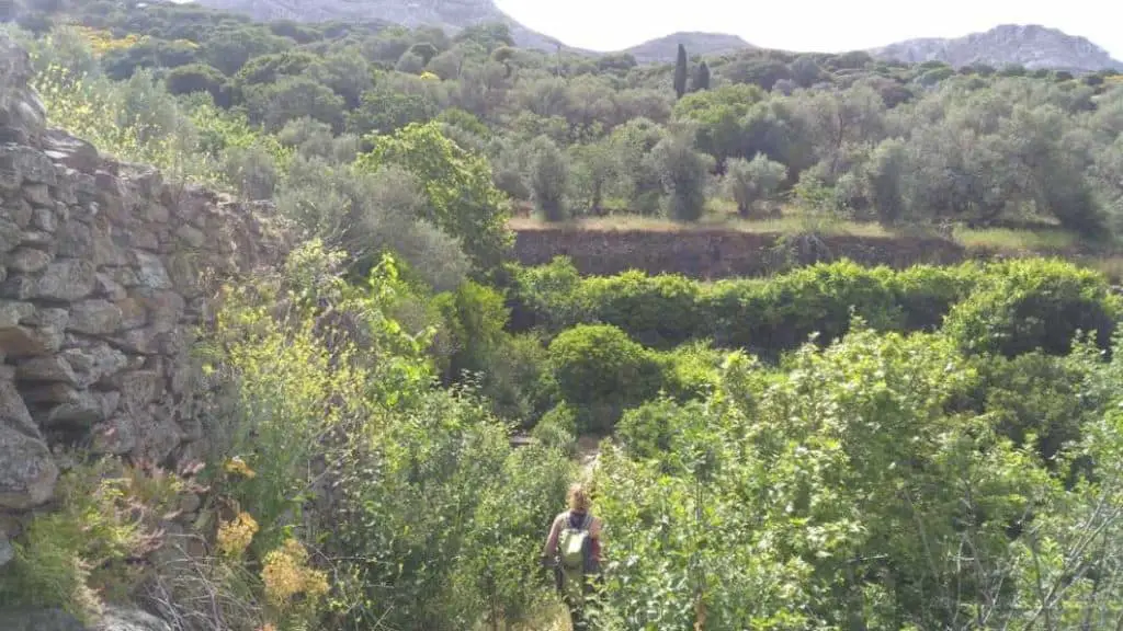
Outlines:
{"label": "rounded dark green bush just beyond the hiker's path", "polygon": [[550,364],[564,401],[577,411],[581,431],[612,431],[621,412],[655,396],[657,357],[609,324],[582,324],[550,342]]}

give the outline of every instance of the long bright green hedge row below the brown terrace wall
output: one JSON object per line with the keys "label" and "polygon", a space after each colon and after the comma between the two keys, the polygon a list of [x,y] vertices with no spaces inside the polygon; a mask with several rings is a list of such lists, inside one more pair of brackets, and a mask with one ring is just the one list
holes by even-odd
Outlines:
{"label": "long bright green hedge row below the brown terrace wall", "polygon": [[769,358],[812,333],[821,342],[844,335],[853,314],[878,330],[944,327],[969,353],[1063,354],[1077,330],[1106,347],[1121,312],[1103,275],[1043,258],[905,271],[843,260],[716,283],[641,272],[583,278],[557,258],[517,269],[509,295],[515,329],[605,323],[654,348],[710,339]]}

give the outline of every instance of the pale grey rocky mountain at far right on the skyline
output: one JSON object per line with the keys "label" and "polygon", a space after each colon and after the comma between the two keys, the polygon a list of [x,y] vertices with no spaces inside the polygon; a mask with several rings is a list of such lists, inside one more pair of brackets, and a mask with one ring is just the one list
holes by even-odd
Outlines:
{"label": "pale grey rocky mountain at far right on the skyline", "polygon": [[1020,64],[1031,70],[1070,72],[1123,70],[1123,62],[1113,60],[1107,51],[1088,39],[1039,25],[1002,25],[955,39],[909,39],[869,53],[909,63],[940,61],[955,67],[982,63],[994,67]]}

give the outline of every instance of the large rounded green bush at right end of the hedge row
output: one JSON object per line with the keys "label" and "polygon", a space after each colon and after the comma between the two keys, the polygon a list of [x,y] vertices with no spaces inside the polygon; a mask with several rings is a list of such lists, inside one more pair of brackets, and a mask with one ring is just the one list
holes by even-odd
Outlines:
{"label": "large rounded green bush at right end of the hedge row", "polygon": [[1066,355],[1077,331],[1107,348],[1119,314],[1102,274],[1061,260],[1012,260],[987,266],[944,331],[965,353]]}

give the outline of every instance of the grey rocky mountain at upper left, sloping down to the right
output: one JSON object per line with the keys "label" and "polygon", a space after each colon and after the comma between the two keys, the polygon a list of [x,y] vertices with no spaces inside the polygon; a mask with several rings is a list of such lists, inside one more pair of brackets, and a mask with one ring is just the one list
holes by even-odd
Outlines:
{"label": "grey rocky mountain at upper left, sloping down to the right", "polygon": [[246,13],[256,20],[385,21],[408,27],[438,26],[456,33],[481,22],[503,22],[515,44],[555,51],[557,39],[519,24],[492,0],[195,0],[212,9]]}

